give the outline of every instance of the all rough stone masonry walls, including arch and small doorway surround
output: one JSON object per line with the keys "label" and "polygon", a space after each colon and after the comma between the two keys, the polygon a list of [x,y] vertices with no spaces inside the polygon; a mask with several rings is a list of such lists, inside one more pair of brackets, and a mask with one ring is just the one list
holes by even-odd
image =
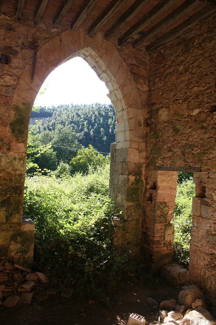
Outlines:
{"label": "all rough stone masonry walls, including arch and small doorway surround", "polygon": [[[85,26],[54,28],[48,17],[34,24],[29,8],[20,19],[14,2],[0,7],[0,256],[32,263],[34,224],[22,218],[31,108],[49,73],[80,56],[106,83],[117,116],[109,195],[124,220],[115,221],[115,245],[130,242],[155,272],[171,262],[177,172],[194,172],[189,282],[214,300],[215,14],[147,52],[102,32],[90,37]],[[20,246],[26,255],[15,255]]]}

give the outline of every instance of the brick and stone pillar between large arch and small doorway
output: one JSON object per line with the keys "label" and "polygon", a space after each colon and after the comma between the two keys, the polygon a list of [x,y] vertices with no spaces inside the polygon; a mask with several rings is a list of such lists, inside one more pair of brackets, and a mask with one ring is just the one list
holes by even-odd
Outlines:
{"label": "brick and stone pillar between large arch and small doorway", "polygon": [[177,172],[147,172],[141,252],[155,273],[173,258],[174,225],[170,220],[176,205],[176,186]]}

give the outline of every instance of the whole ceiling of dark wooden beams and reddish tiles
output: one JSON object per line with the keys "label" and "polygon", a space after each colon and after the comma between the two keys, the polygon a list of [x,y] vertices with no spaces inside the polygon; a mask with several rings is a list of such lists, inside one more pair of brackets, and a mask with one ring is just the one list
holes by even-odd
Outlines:
{"label": "whole ceiling of dark wooden beams and reddish tiles", "polygon": [[81,25],[93,36],[145,45],[148,51],[178,37],[216,13],[215,0],[0,0],[0,12],[27,16],[35,24],[51,18],[54,28]]}

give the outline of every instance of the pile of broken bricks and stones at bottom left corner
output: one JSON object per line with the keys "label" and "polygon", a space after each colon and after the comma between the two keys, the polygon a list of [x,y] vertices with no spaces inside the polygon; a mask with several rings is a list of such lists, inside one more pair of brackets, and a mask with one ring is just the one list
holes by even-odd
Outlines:
{"label": "pile of broken bricks and stones at bottom left corner", "polygon": [[[42,301],[47,295],[56,294],[53,288],[43,290],[45,295],[38,293],[36,289],[42,283],[48,283],[43,273],[32,273],[29,267],[17,262],[0,261],[0,305],[12,308],[17,304],[30,304],[33,297]],[[64,288],[62,297],[70,298],[72,292],[73,289]]]}

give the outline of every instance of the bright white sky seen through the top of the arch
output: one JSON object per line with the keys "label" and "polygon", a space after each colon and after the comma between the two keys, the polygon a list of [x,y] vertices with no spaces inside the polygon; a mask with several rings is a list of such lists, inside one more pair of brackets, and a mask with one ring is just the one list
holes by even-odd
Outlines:
{"label": "bright white sky seen through the top of the arch", "polygon": [[60,65],[49,74],[43,85],[48,85],[47,90],[38,96],[37,106],[111,103],[105,83],[82,58]]}

